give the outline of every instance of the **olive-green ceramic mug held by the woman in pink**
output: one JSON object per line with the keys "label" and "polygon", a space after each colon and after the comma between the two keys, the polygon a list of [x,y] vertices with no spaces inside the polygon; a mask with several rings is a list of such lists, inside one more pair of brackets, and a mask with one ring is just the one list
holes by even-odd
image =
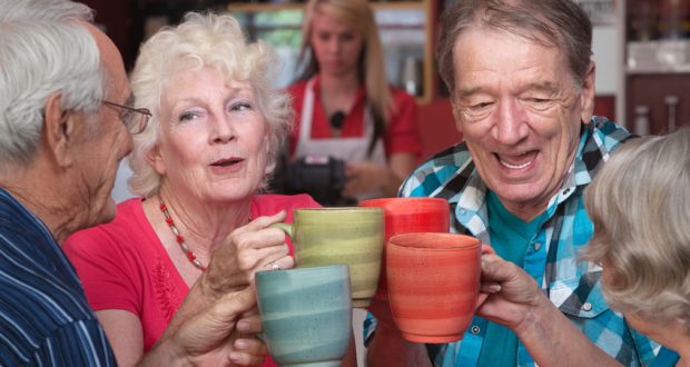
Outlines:
{"label": "olive-green ceramic mug held by the woman in pink", "polygon": [[347,265],[353,307],[367,307],[376,292],[384,245],[382,208],[297,209],[294,222],[275,224],[295,246],[297,268]]}

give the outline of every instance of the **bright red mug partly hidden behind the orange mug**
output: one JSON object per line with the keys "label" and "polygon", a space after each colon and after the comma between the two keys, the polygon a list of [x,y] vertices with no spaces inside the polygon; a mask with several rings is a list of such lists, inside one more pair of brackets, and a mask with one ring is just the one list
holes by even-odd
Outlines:
{"label": "bright red mug partly hidden behind the orange mug", "polygon": [[[451,209],[448,201],[440,198],[379,198],[359,201],[361,207],[384,209],[385,236],[410,232],[447,232],[450,230]],[[375,300],[386,301],[386,249],[382,258],[382,271],[378,278]]]}

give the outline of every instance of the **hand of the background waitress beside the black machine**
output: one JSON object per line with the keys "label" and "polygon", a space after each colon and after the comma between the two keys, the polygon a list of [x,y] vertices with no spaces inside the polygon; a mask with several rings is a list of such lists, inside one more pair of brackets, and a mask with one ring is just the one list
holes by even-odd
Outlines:
{"label": "hand of the background waitress beside the black machine", "polygon": [[358,195],[379,190],[391,180],[391,170],[369,161],[347,162],[345,166],[345,188],[343,196],[354,198]]}

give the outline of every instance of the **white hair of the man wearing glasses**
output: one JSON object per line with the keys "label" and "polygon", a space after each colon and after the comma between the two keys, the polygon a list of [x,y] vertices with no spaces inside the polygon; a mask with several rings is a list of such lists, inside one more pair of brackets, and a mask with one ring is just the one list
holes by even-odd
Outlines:
{"label": "white hair of the man wearing glasses", "polygon": [[68,0],[0,1],[0,166],[21,168],[40,145],[43,108],[60,92],[66,110],[92,113],[106,71],[96,40],[80,21],[91,10]]}

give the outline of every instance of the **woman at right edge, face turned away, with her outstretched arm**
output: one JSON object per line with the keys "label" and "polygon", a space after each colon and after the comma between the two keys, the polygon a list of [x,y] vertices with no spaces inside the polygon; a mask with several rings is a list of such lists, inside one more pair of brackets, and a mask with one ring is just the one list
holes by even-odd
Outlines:
{"label": "woman at right edge, face turned away, with her outstretched arm", "polygon": [[[607,302],[663,346],[652,366],[690,366],[690,128],[625,143],[584,205],[594,236],[582,257],[602,266]],[[540,365],[618,366],[573,333],[529,275],[496,256],[483,260],[492,296],[477,313],[520,330]],[[545,335],[545,324],[558,334]]]}

